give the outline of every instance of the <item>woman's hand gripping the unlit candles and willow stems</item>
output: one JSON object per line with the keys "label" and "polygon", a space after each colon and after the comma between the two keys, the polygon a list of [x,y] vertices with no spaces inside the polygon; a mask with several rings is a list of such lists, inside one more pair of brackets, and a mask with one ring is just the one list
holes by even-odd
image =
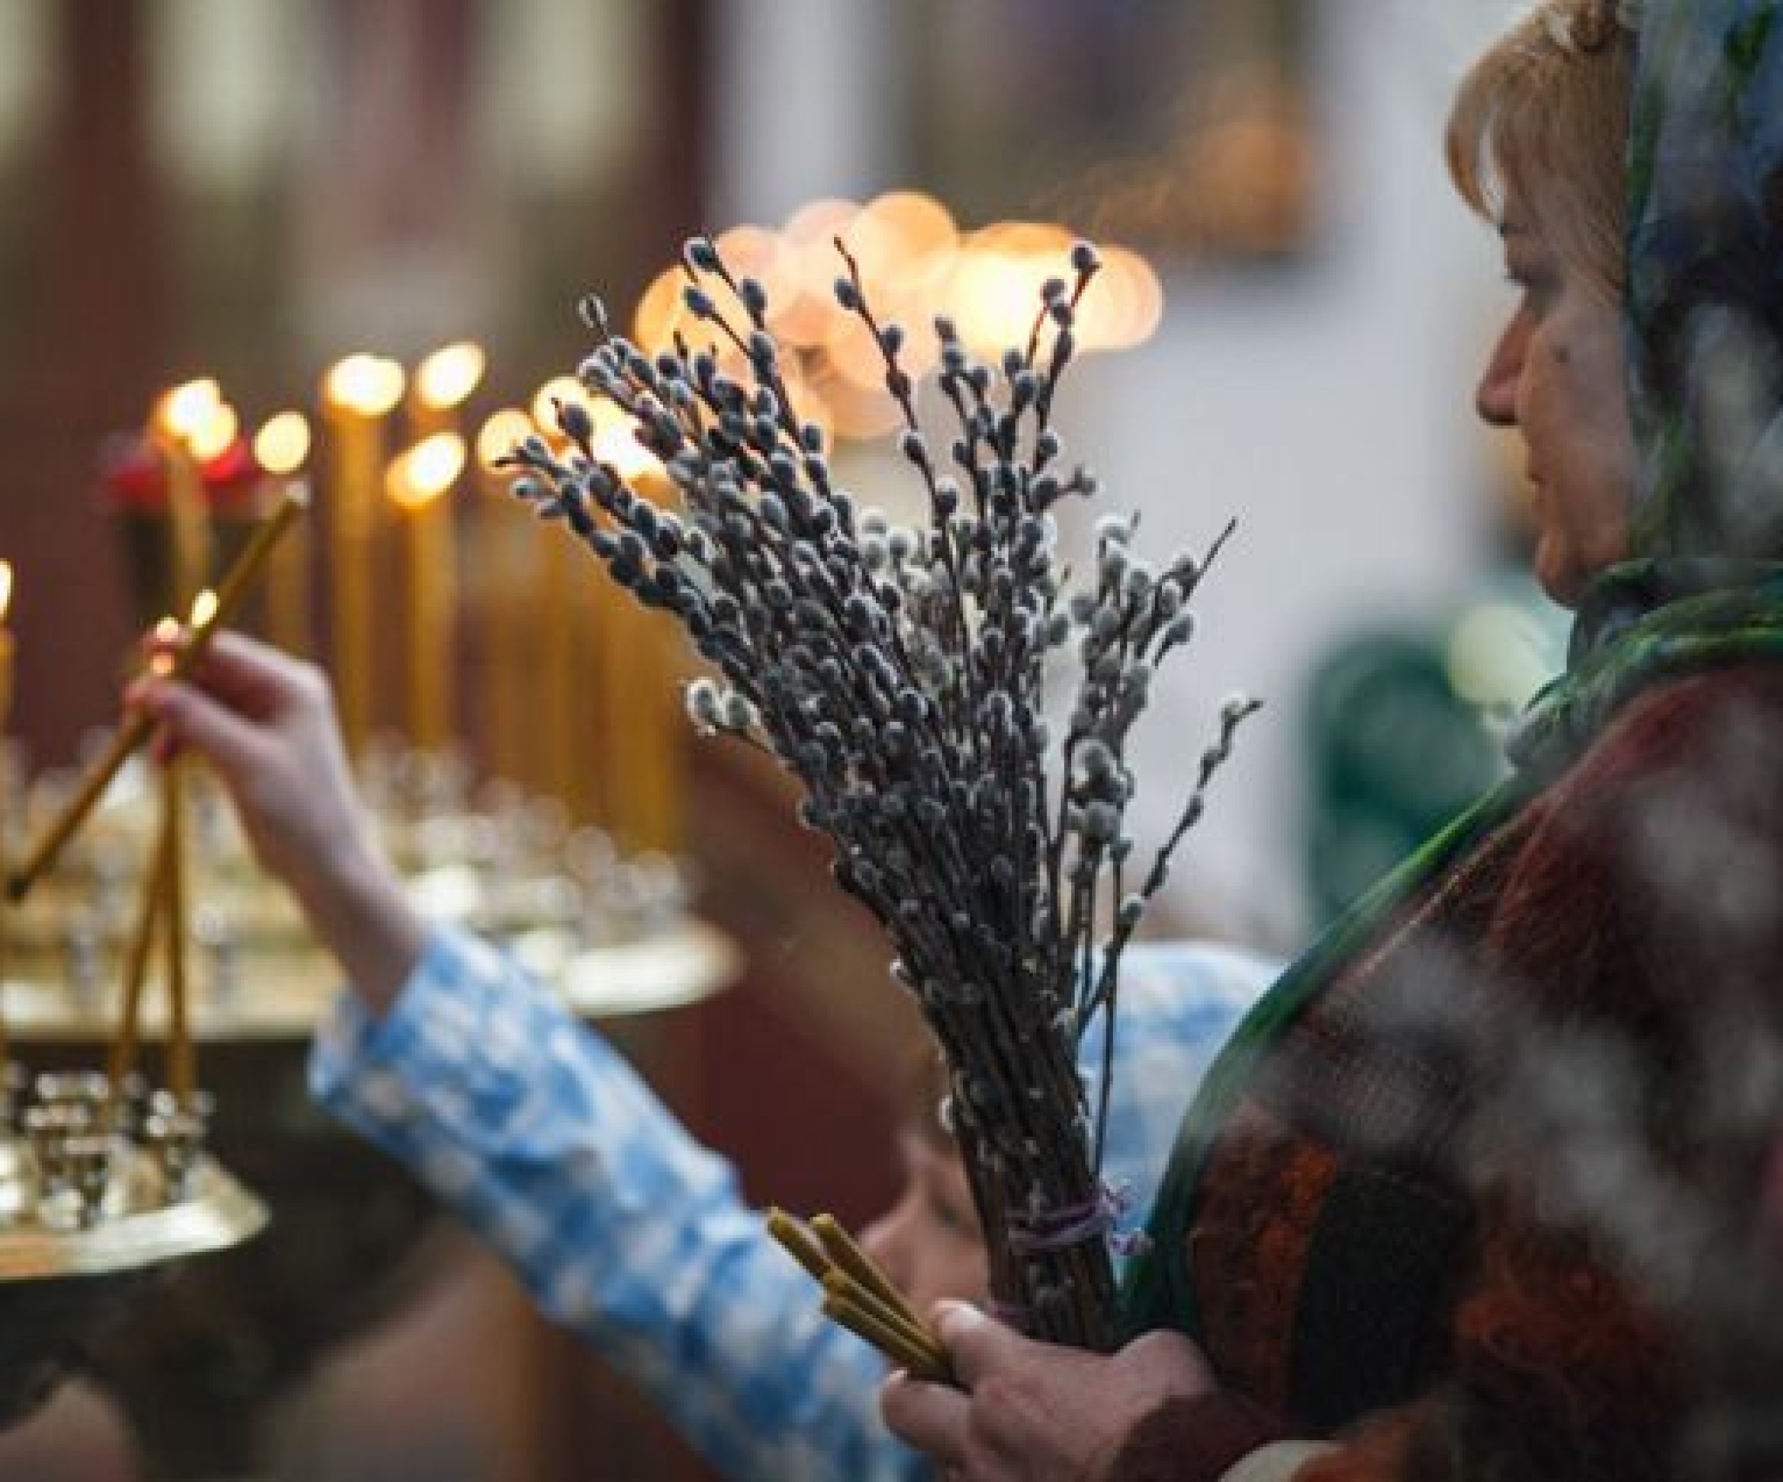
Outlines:
{"label": "woman's hand gripping the unlit candles and willow stems", "polygon": [[965,1304],[936,1330],[963,1389],[897,1373],[881,1391],[886,1425],[959,1482],[1088,1482],[1166,1400],[1216,1389],[1200,1350],[1150,1332],[1114,1355],[1034,1343]]}

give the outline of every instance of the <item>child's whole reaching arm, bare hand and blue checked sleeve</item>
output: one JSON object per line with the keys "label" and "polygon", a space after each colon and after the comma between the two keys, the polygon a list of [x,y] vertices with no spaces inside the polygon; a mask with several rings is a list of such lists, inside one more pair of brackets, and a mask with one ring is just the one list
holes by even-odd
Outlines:
{"label": "child's whole reaching arm, bare hand and blue checked sleeve", "polygon": [[353,983],[317,1099],[412,1168],[540,1307],[738,1482],[895,1482],[879,1357],[818,1313],[724,1159],[512,959],[428,934],[349,781],[328,683],[219,633],[191,685],[130,703],[221,774],[260,863]]}

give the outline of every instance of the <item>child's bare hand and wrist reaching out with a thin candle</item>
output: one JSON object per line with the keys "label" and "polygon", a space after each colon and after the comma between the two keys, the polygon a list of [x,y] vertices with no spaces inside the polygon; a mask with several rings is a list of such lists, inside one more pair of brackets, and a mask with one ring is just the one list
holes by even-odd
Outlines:
{"label": "child's bare hand and wrist reaching out with a thin candle", "polygon": [[159,722],[157,756],[193,751],[216,767],[255,856],[367,1004],[389,1008],[426,933],[353,790],[323,672],[218,633],[187,683],[144,678],[125,703]]}

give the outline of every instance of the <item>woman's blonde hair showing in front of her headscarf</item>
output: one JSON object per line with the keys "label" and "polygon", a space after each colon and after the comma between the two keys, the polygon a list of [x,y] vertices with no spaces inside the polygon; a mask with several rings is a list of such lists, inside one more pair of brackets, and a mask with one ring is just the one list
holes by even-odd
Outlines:
{"label": "woman's blonde hair showing in front of her headscarf", "polygon": [[1448,166],[1480,216],[1528,226],[1608,298],[1628,282],[1628,116],[1635,12],[1546,0],[1482,55],[1455,93]]}

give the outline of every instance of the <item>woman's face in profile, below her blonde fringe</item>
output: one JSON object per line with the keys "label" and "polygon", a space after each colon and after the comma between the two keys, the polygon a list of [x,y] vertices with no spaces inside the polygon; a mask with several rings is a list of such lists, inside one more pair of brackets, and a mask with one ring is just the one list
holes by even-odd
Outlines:
{"label": "woman's face in profile, below her blonde fringe", "polygon": [[1505,273],[1521,298],[1476,392],[1480,416],[1523,433],[1535,576],[1571,606],[1628,556],[1635,442],[1628,426],[1621,309],[1601,284],[1510,210]]}

